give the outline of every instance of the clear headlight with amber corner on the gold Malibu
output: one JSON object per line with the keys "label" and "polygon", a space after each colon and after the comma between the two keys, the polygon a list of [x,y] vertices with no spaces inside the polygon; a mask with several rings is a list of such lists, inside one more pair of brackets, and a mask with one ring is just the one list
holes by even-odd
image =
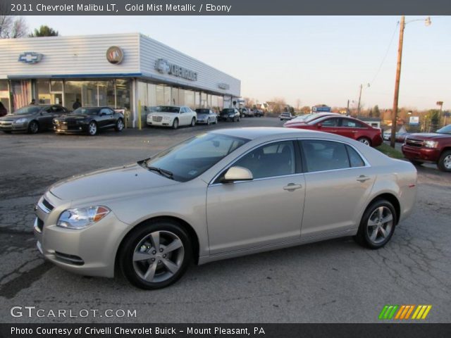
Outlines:
{"label": "clear headlight with amber corner on the gold Malibu", "polygon": [[87,206],[85,208],[71,208],[63,211],[58,218],[56,225],[68,229],[84,229],[110,213],[106,206]]}

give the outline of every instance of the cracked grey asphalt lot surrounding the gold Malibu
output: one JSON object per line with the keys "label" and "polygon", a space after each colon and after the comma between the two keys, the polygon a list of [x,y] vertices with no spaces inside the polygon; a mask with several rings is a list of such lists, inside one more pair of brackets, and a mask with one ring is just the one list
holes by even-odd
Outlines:
{"label": "cracked grey asphalt lot surrounding the gold Malibu", "polygon": [[[451,320],[451,174],[419,170],[414,213],[385,248],[351,238],[192,266],[172,287],[142,291],[45,263],[32,235],[33,206],[70,175],[146,158],[220,127],[280,126],[276,118],[85,135],[0,134],[0,321],[3,323],[373,323],[385,304],[431,304],[424,321]],[[101,245],[101,244],[99,244]],[[13,318],[12,306],[45,311],[136,310],[136,318]],[[100,312],[101,313],[101,312]]]}

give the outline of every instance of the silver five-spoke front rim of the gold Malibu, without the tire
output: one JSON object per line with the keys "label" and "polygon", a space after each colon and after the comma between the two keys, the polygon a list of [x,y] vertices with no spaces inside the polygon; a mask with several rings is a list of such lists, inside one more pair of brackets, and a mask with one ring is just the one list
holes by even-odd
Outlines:
{"label": "silver five-spoke front rim of the gold Malibu, without the tire", "polygon": [[146,282],[164,282],[180,270],[185,256],[183,242],[170,231],[145,235],[132,256],[135,273]]}

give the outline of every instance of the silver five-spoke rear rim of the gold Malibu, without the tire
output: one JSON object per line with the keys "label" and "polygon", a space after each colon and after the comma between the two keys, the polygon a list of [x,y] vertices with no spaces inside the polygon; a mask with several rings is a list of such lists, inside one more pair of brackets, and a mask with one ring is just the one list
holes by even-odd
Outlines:
{"label": "silver five-spoke rear rim of the gold Malibu, without the tire", "polygon": [[379,206],[369,216],[366,232],[373,244],[380,244],[390,236],[393,229],[393,213],[386,206]]}

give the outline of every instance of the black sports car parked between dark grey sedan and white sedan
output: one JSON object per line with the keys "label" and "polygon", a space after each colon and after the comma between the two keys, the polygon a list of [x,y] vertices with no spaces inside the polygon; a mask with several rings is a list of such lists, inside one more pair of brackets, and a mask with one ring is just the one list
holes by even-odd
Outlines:
{"label": "black sports car parked between dark grey sedan and white sedan", "polygon": [[54,119],[54,131],[61,134],[86,132],[94,136],[101,129],[124,128],[124,116],[109,107],[80,107],[72,113]]}

